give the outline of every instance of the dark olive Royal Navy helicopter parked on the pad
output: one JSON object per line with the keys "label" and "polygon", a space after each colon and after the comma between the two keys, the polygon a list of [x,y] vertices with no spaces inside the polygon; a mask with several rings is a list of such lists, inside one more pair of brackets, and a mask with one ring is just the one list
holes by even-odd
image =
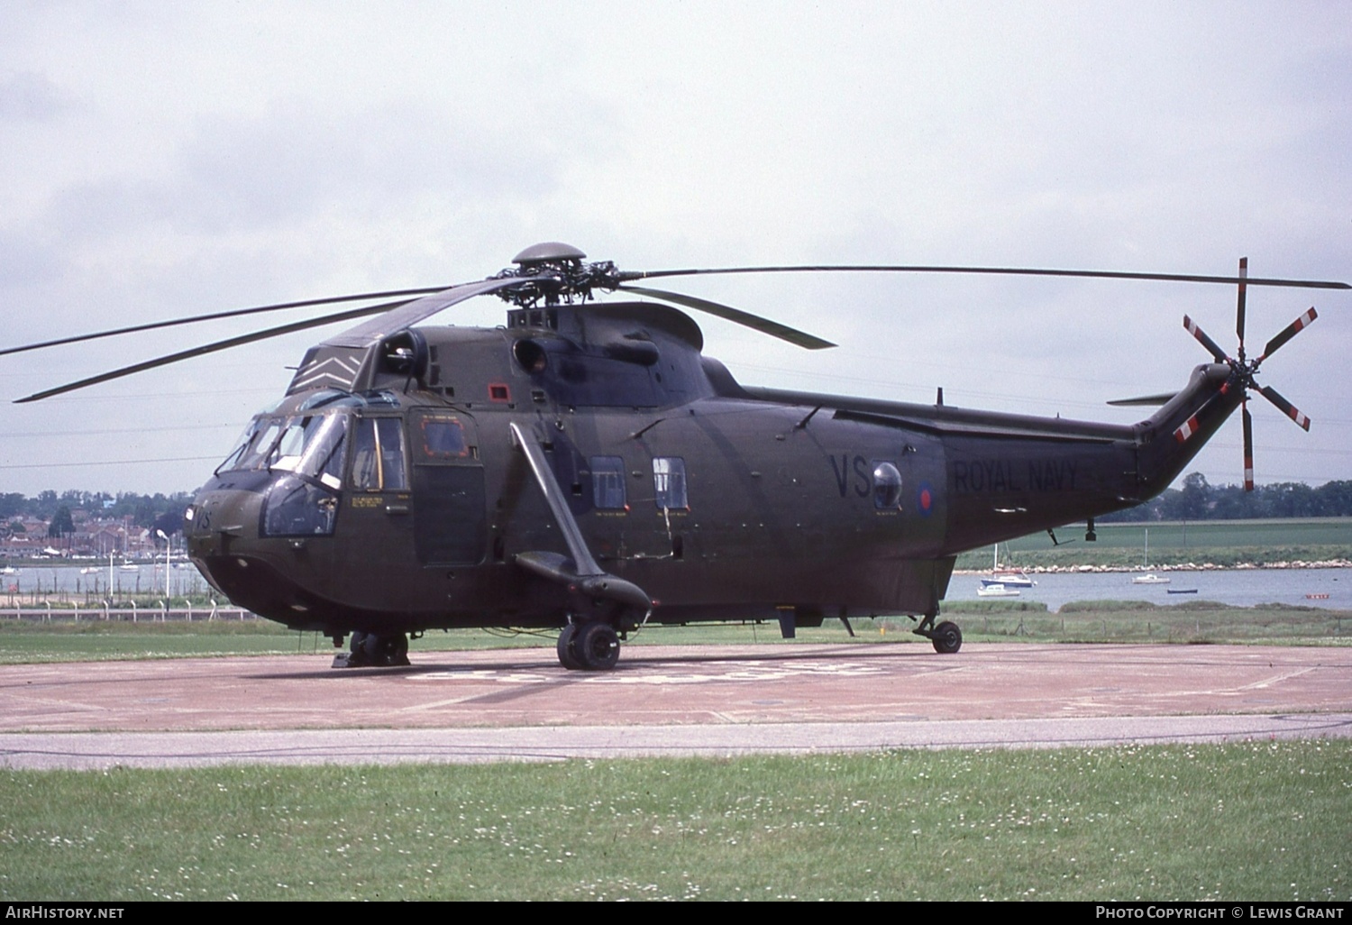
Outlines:
{"label": "dark olive Royal Navy helicopter parked on the pad", "polygon": [[[907,615],[938,653],[959,553],[1084,523],[1157,495],[1248,398],[1310,421],[1257,384],[1314,308],[1249,357],[1252,285],[1318,280],[964,266],[621,270],[566,243],[443,288],[214,312],[0,350],[55,346],[281,308],[372,302],[124,366],[20,402],[154,366],[369,318],[312,346],[283,399],[253,418],[184,515],[188,553],[237,606],[330,637],[335,667],[407,665],[433,629],[558,630],[564,668],[607,671],[645,626],[773,621],[798,627]],[[802,272],[990,273],[1238,287],[1238,349],[1207,350],[1133,425],[761,388],[703,353],[683,310],[806,349],[829,341],[730,306],[638,285],[662,277]],[[638,300],[598,302],[598,292]],[[466,299],[508,303],[502,327],[420,326]],[[852,633],[852,630],[850,630]],[[350,645],[342,652],[345,640]]]}

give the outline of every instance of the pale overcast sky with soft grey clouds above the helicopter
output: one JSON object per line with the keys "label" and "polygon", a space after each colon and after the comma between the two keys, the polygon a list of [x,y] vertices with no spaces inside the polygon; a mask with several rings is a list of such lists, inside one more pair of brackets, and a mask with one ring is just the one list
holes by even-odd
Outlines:
{"label": "pale overcast sky with soft grey clouds above the helicopter", "polygon": [[[0,345],[489,276],[538,241],[622,269],[963,264],[1352,281],[1343,3],[0,0]],[[1129,423],[1233,349],[1230,287],[704,277],[746,384]],[[1260,483],[1352,479],[1352,292],[1252,289]],[[434,323],[503,323],[487,298]],[[283,323],[303,314],[270,316]],[[0,492],[192,491],[342,327],[31,404],[251,330],[0,357]],[[1236,415],[1188,471],[1242,479]]]}

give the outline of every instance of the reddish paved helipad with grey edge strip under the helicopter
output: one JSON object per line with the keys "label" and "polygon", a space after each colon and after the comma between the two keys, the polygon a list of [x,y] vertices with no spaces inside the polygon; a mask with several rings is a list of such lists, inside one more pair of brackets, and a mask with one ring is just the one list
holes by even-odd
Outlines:
{"label": "reddish paved helipad with grey edge strip under the helicopter", "polygon": [[604,673],[565,671],[552,649],[412,657],[411,668],[347,671],[327,655],[3,667],[0,763],[1352,736],[1352,648],[626,646]]}

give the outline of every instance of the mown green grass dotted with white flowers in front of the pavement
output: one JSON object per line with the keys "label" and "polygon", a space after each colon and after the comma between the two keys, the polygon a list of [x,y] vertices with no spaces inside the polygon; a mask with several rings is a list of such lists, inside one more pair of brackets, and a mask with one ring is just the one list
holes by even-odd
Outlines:
{"label": "mown green grass dotted with white flowers in front of the pavement", "polygon": [[0,772],[4,899],[1352,898],[1352,742]]}

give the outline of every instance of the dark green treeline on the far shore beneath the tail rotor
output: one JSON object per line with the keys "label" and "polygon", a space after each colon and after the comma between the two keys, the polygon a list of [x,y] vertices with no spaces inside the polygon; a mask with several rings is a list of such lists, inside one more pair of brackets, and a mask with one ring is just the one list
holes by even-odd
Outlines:
{"label": "dark green treeline on the far shore beneath the tail rotor", "polygon": [[1352,481],[1328,481],[1318,488],[1279,481],[1244,491],[1244,485],[1213,485],[1201,472],[1183,479],[1155,500],[1107,517],[1103,523],[1140,521],[1238,521],[1268,517],[1352,517]]}

